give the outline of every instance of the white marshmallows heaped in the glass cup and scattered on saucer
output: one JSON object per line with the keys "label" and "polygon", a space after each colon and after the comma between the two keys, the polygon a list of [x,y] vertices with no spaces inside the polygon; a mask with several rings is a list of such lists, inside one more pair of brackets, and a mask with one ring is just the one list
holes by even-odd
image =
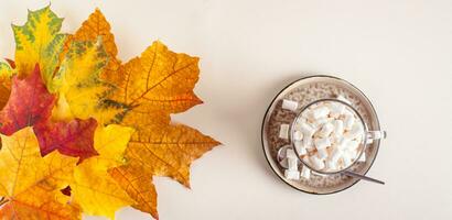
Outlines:
{"label": "white marshmallows heaped in the glass cup and scattered on saucer", "polygon": [[[283,100],[282,108],[297,111],[298,102]],[[289,139],[289,124],[281,124],[279,138]],[[337,101],[322,101],[301,112],[294,122],[291,141],[295,146],[294,153],[305,164],[315,170],[333,173],[351,166],[356,160],[365,161],[364,152],[359,157],[364,135],[360,119],[348,106]],[[290,157],[298,158],[291,153],[286,155],[288,162],[291,161]],[[303,166],[301,176],[309,178],[305,169],[308,167]],[[297,172],[298,167],[295,169],[292,164],[284,175],[288,179],[298,179]]]}

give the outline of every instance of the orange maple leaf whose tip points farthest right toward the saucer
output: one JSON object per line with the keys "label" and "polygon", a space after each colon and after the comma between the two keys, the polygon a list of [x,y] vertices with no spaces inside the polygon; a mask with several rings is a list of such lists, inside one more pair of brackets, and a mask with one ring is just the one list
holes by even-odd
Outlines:
{"label": "orange maple leaf whose tip points farthest right toward the saucer", "polygon": [[[144,134],[144,135],[143,135]],[[132,136],[126,151],[130,163],[143,172],[170,176],[190,187],[190,165],[219,143],[183,124],[146,130]]]}

